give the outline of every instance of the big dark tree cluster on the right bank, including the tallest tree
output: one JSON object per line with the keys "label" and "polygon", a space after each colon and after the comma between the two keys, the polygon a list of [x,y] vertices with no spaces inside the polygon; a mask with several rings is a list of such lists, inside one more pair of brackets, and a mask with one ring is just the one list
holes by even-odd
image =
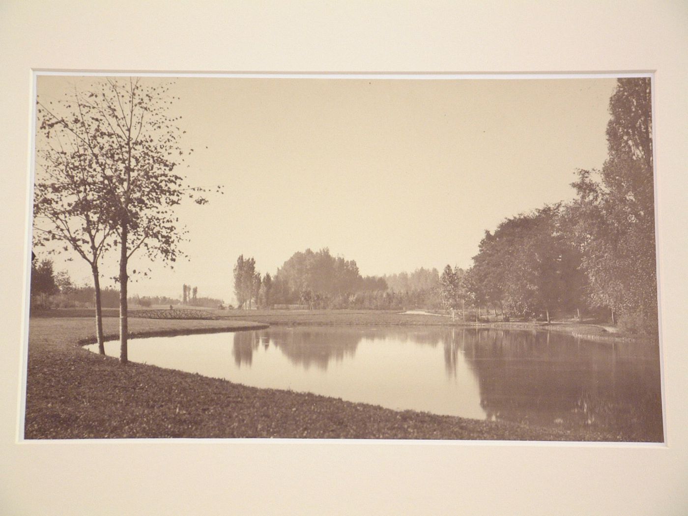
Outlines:
{"label": "big dark tree cluster on the right bank, including the tallest tree", "polygon": [[464,281],[475,306],[548,320],[607,310],[626,330],[656,334],[651,99],[649,78],[619,79],[608,159],[577,172],[577,198],[485,233]]}

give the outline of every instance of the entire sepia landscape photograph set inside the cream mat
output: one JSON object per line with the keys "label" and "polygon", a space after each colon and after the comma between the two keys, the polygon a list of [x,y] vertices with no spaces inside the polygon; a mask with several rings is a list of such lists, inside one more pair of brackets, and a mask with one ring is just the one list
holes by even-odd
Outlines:
{"label": "entire sepia landscape photograph set inside the cream mat", "polygon": [[650,74],[34,91],[20,440],[665,442]]}

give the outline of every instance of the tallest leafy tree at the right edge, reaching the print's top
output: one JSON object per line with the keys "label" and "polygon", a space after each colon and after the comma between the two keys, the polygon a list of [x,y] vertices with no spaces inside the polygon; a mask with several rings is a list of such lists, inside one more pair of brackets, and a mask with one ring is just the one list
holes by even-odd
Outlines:
{"label": "tallest leafy tree at the right edge, reaching the print's top", "polygon": [[649,78],[620,78],[610,98],[608,159],[579,171],[572,212],[589,297],[656,331],[652,96]]}

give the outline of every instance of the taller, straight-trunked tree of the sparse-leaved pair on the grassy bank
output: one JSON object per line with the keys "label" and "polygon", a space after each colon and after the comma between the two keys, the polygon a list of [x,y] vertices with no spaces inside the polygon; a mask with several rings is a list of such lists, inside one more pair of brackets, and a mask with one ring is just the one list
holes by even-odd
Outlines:
{"label": "taller, straight-trunked tree of the sparse-leaved pair on the grassy bank", "polygon": [[[175,173],[184,155],[180,117],[169,85],[143,78],[103,78],[74,90],[51,109],[49,122],[80,142],[81,166],[96,184],[99,209],[107,215],[119,250],[120,360],[127,363],[129,259],[140,252],[171,264],[182,255],[184,230],[174,208],[184,197],[204,204],[197,187]],[[134,273],[136,271],[133,271]]]}

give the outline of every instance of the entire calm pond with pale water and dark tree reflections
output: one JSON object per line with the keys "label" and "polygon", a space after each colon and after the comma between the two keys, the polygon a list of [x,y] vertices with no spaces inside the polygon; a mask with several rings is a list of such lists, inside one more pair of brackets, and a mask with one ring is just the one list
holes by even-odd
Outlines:
{"label": "entire calm pond with pale water and dark tree reflections", "polygon": [[[118,342],[105,345],[118,354]],[[663,441],[659,352],[646,343],[528,330],[277,326],[131,339],[129,360],[391,409]]]}

